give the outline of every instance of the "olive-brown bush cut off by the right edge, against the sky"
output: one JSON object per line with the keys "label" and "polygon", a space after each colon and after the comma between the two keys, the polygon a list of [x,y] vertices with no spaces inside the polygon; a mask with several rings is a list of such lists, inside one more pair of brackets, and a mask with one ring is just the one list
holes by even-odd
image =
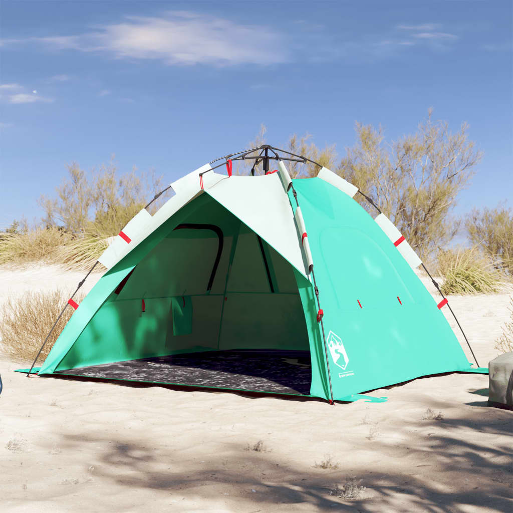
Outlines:
{"label": "olive-brown bush cut off by the right edge, against the sky", "polygon": [[497,267],[513,279],[513,212],[500,205],[474,209],[465,220],[469,241],[484,248]]}

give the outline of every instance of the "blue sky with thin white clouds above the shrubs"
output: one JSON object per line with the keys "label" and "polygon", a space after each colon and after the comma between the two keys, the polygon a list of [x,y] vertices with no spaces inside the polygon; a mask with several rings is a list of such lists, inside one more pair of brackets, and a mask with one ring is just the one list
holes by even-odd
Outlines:
{"label": "blue sky with thin white clouds above the shrubs", "polygon": [[71,162],[115,154],[170,183],[261,123],[342,154],[354,122],[396,139],[429,107],[484,151],[457,211],[495,206],[513,192],[512,5],[3,0],[0,228],[40,217]]}

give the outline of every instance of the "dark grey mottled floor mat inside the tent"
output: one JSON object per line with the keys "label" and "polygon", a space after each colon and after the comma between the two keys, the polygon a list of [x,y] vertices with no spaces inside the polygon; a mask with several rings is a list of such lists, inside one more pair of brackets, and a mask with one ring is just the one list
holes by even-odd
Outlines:
{"label": "dark grey mottled floor mat inside the tent", "polygon": [[309,396],[310,351],[226,350],[128,360],[54,374]]}

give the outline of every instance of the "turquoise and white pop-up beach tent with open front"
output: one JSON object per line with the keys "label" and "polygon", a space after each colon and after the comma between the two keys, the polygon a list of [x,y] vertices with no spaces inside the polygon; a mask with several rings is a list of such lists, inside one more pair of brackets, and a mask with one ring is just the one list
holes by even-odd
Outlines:
{"label": "turquoise and white pop-up beach tent with open front", "polygon": [[[253,151],[253,150],[252,150]],[[321,168],[291,180],[262,146],[264,175],[207,164],[173,182],[100,257],[107,271],[38,370],[354,400],[471,368],[399,230]],[[269,155],[272,152],[274,156]],[[31,369],[32,370],[32,369]],[[34,369],[35,370],[35,369]]]}

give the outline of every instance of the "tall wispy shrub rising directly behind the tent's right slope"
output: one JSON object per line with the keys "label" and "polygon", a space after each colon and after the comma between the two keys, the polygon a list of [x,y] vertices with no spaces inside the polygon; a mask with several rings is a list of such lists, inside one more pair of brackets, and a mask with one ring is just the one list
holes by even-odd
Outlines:
{"label": "tall wispy shrub rising directly behind the tent's right slope", "polygon": [[[381,127],[357,124],[356,132],[356,145],[347,149],[338,173],[369,196],[427,259],[455,234],[450,213],[481,159],[468,140],[468,127],[452,133],[429,112],[415,133],[395,142],[385,143]],[[362,196],[355,199],[371,208]]]}

